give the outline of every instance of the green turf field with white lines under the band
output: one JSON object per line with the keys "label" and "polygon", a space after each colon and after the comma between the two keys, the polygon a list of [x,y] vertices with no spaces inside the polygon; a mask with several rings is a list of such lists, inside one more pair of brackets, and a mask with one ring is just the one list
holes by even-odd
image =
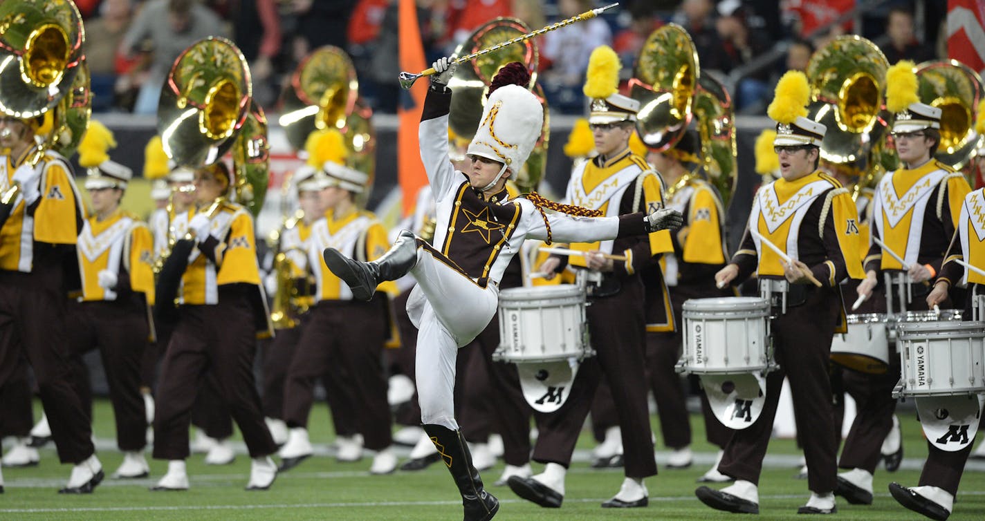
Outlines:
{"label": "green turf field with white lines under the band", "polygon": [[[327,443],[332,434],[323,407],[312,413],[311,439]],[[508,488],[490,486],[502,465],[484,473],[490,490],[501,506],[496,519],[734,519],[731,514],[711,510],[693,495],[694,480],[713,459],[711,447],[703,440],[699,418],[691,421],[693,445],[698,460],[688,470],[665,471],[647,480],[650,506],[623,511],[602,509],[599,503],[613,495],[622,483],[620,470],[597,471],[586,461],[572,465],[567,479],[564,504],[559,510],[540,508],[517,498]],[[839,519],[903,520],[917,516],[898,506],[889,497],[886,485],[899,481],[916,484],[919,466],[926,455],[919,423],[902,419],[906,459],[895,474],[880,470],[876,474],[876,501],[872,506],[854,506],[838,500]],[[95,433],[100,445],[112,439],[112,412],[100,401],[96,409]],[[659,432],[659,429],[657,430]],[[579,449],[592,445],[588,435],[579,440]],[[658,463],[666,453],[658,440]],[[760,519],[789,519],[808,497],[807,482],[793,479],[796,448],[791,440],[770,443],[770,467],[760,481]],[[582,454],[582,452],[579,452]],[[147,488],[163,474],[166,463],[151,462],[152,477],[137,482],[118,482],[108,475],[122,457],[114,450],[99,452],[107,479],[91,495],[65,496],[56,493],[68,478],[70,467],[56,463],[53,448],[41,450],[41,463],[29,469],[3,469],[6,492],[0,495],[0,519],[461,519],[461,506],[447,471],[434,465],[418,473],[369,476],[371,457],[359,463],[336,463],[329,457],[312,457],[296,469],[278,477],[267,491],[243,490],[249,473],[249,460],[240,454],[235,463],[210,467],[201,455],[188,460],[191,489],[184,492],[151,492]],[[583,458],[582,458],[583,460]],[[978,468],[985,468],[976,464]],[[540,466],[535,466],[539,472]],[[985,472],[967,471],[951,519],[985,519]]]}

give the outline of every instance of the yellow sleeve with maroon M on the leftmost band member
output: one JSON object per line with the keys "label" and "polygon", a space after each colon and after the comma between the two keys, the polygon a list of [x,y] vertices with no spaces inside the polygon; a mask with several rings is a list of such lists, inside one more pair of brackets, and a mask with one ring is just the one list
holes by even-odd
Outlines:
{"label": "yellow sleeve with maroon M on the leftmost band member", "polygon": [[41,174],[40,197],[27,209],[34,218],[34,240],[75,244],[85,216],[82,195],[60,161],[51,161]]}

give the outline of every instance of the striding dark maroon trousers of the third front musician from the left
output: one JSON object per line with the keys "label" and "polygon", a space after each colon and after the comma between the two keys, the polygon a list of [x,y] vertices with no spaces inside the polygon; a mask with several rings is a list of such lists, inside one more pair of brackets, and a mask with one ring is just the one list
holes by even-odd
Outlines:
{"label": "striding dark maroon trousers of the third front musician from the left", "polygon": [[185,305],[164,354],[154,419],[154,457],[188,457],[188,425],[207,371],[242,432],[250,457],[277,450],[270,437],[253,377],[256,336],[253,309],[241,288],[220,287],[219,304]]}

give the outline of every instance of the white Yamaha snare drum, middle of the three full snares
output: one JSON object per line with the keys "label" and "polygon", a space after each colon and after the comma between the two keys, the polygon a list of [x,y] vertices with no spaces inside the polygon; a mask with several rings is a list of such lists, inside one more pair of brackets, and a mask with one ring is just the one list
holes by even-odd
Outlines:
{"label": "white Yamaha snare drum, middle of the three full snares", "polygon": [[733,296],[691,298],[683,306],[684,355],[678,363],[695,374],[738,374],[767,369],[769,302]]}

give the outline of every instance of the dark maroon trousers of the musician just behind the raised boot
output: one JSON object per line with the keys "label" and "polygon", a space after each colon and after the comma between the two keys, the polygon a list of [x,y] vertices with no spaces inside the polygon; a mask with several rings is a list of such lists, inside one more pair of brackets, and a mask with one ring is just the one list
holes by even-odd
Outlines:
{"label": "dark maroon trousers of the musician just behind the raised boot", "polygon": [[[307,425],[315,380],[323,378],[333,417],[345,412],[352,419],[336,425],[338,434],[360,432],[370,450],[392,444],[382,363],[383,305],[377,298],[322,300],[311,307],[285,380],[284,420],[289,426]],[[346,432],[346,423],[355,426],[355,432]]]}

